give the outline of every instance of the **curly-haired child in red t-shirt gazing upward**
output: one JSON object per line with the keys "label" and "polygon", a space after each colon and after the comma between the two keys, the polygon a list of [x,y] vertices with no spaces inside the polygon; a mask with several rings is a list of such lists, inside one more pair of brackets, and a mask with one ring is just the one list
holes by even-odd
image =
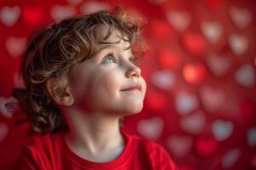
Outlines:
{"label": "curly-haired child in red t-shirt gazing upward", "polygon": [[176,169],[162,146],[120,128],[143,109],[140,27],[120,9],[61,20],[32,38],[15,89],[37,133],[15,169]]}

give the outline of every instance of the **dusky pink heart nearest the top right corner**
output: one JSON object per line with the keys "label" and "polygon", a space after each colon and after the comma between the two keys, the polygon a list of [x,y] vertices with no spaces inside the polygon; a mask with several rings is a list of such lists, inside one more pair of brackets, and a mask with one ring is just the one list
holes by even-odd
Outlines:
{"label": "dusky pink heart nearest the top right corner", "polygon": [[240,29],[246,28],[253,20],[252,14],[246,8],[230,8],[230,18],[236,27]]}

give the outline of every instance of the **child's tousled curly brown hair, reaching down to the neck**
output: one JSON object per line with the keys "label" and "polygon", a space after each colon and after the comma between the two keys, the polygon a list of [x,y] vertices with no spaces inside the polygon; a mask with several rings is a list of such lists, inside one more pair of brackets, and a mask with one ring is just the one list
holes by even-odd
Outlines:
{"label": "child's tousled curly brown hair, reaching down to the neck", "polygon": [[[100,39],[97,29],[102,25],[108,28],[108,34]],[[120,38],[130,42],[129,48],[136,57],[143,56],[146,46],[142,28],[138,20],[131,20],[121,8],[114,8],[112,12],[102,10],[73,16],[36,31],[20,65],[25,88],[13,89],[13,96],[26,114],[26,122],[31,124],[28,134],[55,133],[68,128],[61,110],[45,88],[49,77],[56,77],[57,80],[70,77],[73,66],[96,54],[99,43],[111,43],[106,40],[114,29],[121,33]],[[58,82],[55,93],[63,88],[61,81]],[[120,123],[122,121],[119,120]]]}

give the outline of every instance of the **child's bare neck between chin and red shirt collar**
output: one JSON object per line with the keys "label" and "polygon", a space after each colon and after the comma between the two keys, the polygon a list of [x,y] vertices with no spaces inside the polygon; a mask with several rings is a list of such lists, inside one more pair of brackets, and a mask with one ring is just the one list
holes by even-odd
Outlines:
{"label": "child's bare neck between chin and red shirt collar", "polygon": [[99,155],[123,147],[125,139],[119,132],[119,117],[99,113],[84,113],[72,108],[63,111],[68,124],[64,134],[73,150],[86,150],[87,155]]}

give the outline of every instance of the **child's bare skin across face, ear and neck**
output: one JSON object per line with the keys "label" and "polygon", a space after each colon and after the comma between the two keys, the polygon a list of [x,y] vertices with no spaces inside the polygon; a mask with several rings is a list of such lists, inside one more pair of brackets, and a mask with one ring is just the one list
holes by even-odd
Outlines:
{"label": "child's bare skin across face, ear and neck", "polygon": [[[98,36],[104,37],[102,26]],[[46,88],[66,117],[69,131],[67,144],[79,156],[90,161],[112,161],[125,148],[125,139],[119,132],[119,118],[137,114],[143,109],[146,82],[141,70],[133,62],[129,42],[113,31],[108,42],[118,42],[102,48],[92,58],[75,65],[73,82],[60,94],[54,94],[55,78],[49,78]],[[109,54],[112,53],[112,54]],[[135,82],[142,89],[122,91]]]}

